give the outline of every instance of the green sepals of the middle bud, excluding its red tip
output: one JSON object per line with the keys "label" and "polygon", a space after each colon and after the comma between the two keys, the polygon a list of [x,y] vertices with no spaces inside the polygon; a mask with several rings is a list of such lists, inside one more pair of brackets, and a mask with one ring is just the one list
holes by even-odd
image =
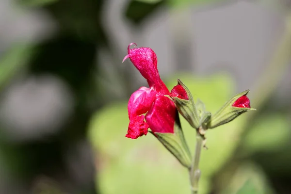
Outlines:
{"label": "green sepals of the middle bud, excluding its red tip", "polygon": [[181,99],[178,97],[173,97],[174,103],[178,109],[178,112],[188,121],[188,123],[195,129],[199,128],[199,115],[197,113],[193,97],[186,87],[186,85],[178,79],[178,84],[180,84],[186,91],[188,95],[188,100]]}

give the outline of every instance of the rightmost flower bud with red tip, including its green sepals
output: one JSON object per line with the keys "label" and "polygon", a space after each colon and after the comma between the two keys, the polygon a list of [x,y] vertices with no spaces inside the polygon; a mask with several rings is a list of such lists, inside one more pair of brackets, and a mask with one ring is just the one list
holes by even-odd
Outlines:
{"label": "rightmost flower bud with red tip, including its green sepals", "polygon": [[242,113],[256,110],[251,108],[250,100],[246,97],[248,92],[249,90],[246,90],[227,101],[217,113],[211,116],[208,128],[218,127],[232,121]]}

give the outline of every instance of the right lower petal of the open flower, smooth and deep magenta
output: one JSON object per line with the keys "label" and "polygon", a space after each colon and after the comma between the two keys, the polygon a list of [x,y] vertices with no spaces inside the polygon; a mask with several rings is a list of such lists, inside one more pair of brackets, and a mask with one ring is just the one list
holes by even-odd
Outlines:
{"label": "right lower petal of the open flower, smooth and deep magenta", "polygon": [[146,123],[154,133],[174,133],[175,118],[175,104],[164,96],[158,96],[149,112],[146,113]]}

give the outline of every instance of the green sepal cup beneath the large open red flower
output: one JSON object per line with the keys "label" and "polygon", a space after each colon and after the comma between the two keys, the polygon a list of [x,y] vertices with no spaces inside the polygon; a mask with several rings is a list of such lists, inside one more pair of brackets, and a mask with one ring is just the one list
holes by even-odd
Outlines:
{"label": "green sepal cup beneath the large open red flower", "polygon": [[191,154],[184,138],[178,112],[174,124],[174,133],[153,133],[158,140],[165,146],[186,168],[191,168]]}

